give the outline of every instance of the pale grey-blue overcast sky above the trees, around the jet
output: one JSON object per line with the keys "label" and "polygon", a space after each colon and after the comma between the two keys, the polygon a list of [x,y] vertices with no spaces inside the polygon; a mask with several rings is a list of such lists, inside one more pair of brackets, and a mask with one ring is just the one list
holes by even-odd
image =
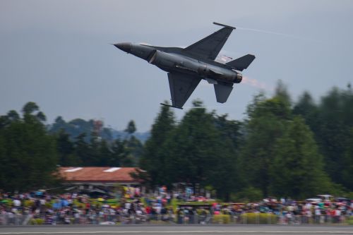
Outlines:
{"label": "pale grey-blue overcast sky above the trees, around the jet", "polygon": [[186,47],[219,30],[213,21],[238,27],[221,54],[256,59],[227,103],[203,80],[174,110],[179,119],[196,98],[243,119],[253,95],[271,95],[277,80],[294,100],[353,80],[353,1],[0,0],[0,115],[32,101],[49,123],[60,115],[123,129],[133,119],[148,131],[170,99],[167,73],[109,43]]}

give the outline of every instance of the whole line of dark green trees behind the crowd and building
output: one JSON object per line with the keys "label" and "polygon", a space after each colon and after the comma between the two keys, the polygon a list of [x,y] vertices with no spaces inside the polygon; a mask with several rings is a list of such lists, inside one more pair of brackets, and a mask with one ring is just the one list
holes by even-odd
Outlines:
{"label": "whole line of dark green trees behind the crowd and building", "polygon": [[[10,111],[0,117],[0,188],[49,187],[57,165],[138,166],[150,188],[183,183],[223,200],[352,196],[352,104],[350,85],[331,89],[319,102],[309,92],[293,102],[279,83],[272,97],[253,97],[241,121],[209,111],[200,100],[180,121],[162,106],[150,138],[141,143],[133,121],[124,138],[112,138],[104,128],[98,133],[82,120],[58,118],[48,128],[29,102],[22,116]],[[70,131],[85,125],[82,133]]]}

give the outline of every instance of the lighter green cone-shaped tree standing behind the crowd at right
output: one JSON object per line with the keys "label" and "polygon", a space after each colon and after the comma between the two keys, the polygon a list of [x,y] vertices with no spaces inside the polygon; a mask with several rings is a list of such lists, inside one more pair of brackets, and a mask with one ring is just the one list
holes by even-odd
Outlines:
{"label": "lighter green cone-shaped tree standing behind the crowd at right", "polygon": [[269,174],[272,195],[302,199],[330,190],[323,158],[304,119],[287,121],[287,131],[273,146]]}

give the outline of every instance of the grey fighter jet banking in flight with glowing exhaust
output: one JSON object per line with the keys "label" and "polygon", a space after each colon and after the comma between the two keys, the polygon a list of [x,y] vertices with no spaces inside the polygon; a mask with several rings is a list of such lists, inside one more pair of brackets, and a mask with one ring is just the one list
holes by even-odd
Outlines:
{"label": "grey fighter jet banking in flight with glowing exhaust", "polygon": [[214,24],[223,28],[186,48],[155,47],[131,42],[116,43],[114,46],[168,73],[172,105],[163,105],[182,109],[201,79],[213,84],[217,102],[225,103],[233,90],[233,84],[242,80],[239,71],[248,68],[255,56],[247,54],[226,64],[215,61],[236,28]]}

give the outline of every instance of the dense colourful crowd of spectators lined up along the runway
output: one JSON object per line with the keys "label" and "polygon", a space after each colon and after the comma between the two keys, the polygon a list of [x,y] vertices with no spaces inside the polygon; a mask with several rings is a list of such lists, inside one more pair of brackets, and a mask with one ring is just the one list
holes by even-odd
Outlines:
{"label": "dense colourful crowd of spectators lined up along the runway", "polygon": [[[178,203],[177,203],[178,202]],[[350,200],[295,201],[281,198],[258,203],[216,203],[194,195],[159,193],[134,195],[119,201],[91,198],[83,193],[0,193],[0,225],[21,224],[177,224],[215,222],[229,216],[229,222],[246,223],[246,215],[275,215],[280,224],[343,223],[352,215]],[[245,219],[244,219],[245,218]],[[249,221],[249,220],[248,220]],[[260,221],[258,221],[260,222]]]}

